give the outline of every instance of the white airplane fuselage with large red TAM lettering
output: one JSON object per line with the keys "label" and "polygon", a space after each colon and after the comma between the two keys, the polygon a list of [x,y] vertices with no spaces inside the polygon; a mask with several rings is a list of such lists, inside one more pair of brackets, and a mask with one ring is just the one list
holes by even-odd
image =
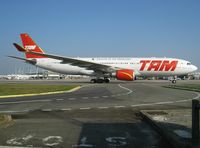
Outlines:
{"label": "white airplane fuselage with large red TAM lettering", "polygon": [[[175,76],[185,75],[197,70],[190,62],[174,58],[74,58],[82,61],[108,65],[119,69],[134,70],[135,76]],[[51,58],[36,59],[36,66],[69,75],[99,76],[93,70],[62,63]]]}

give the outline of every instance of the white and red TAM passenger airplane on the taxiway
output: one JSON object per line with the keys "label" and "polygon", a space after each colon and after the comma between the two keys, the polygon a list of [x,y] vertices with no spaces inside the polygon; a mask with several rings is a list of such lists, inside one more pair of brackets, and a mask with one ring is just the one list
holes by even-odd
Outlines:
{"label": "white and red TAM passenger airplane on the taxiway", "polygon": [[198,68],[189,61],[177,58],[132,58],[132,57],[90,57],[74,58],[45,53],[27,34],[20,34],[23,46],[13,43],[25,53],[26,58],[8,56],[53,72],[68,75],[95,77],[93,83],[109,83],[111,78],[134,81],[138,76],[176,77],[196,71]]}

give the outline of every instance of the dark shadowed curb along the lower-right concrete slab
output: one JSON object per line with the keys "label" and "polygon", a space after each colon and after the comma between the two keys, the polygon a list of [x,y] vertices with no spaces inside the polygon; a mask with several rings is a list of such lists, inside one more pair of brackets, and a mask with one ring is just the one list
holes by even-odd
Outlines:
{"label": "dark shadowed curb along the lower-right concrete slab", "polygon": [[172,133],[168,132],[159,123],[155,122],[146,111],[140,111],[144,120],[146,120],[173,148],[190,148],[191,145],[178,141],[173,137]]}

